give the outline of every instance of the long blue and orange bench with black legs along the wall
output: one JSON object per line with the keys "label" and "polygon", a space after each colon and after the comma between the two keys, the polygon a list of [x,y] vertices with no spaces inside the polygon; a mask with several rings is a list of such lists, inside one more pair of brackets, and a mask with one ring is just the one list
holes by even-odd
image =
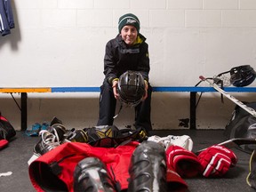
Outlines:
{"label": "long blue and orange bench with black legs along the wall", "polygon": [[[256,92],[256,87],[224,87],[225,92]],[[28,92],[100,92],[100,87],[43,87],[43,88],[0,88],[0,92],[13,93],[20,92],[21,97],[21,130],[27,129],[27,99]],[[189,128],[196,129],[196,93],[197,92],[217,92],[212,87],[202,86],[154,86],[153,92],[189,92],[190,93],[190,122]]]}

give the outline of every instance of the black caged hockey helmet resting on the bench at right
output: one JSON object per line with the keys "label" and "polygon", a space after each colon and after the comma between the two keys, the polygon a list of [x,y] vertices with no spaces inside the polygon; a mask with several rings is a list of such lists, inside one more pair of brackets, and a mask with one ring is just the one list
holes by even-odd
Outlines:
{"label": "black caged hockey helmet resting on the bench at right", "polygon": [[238,66],[230,69],[230,83],[236,87],[243,87],[252,84],[256,72],[250,65]]}

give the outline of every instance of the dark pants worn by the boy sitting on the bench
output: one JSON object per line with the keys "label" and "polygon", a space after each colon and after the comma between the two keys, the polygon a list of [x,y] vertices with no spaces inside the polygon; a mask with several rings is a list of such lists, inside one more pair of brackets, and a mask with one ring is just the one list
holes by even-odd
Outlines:
{"label": "dark pants worn by the boy sitting on the bench", "polygon": [[[135,127],[143,127],[146,131],[152,130],[151,112],[151,93],[152,87],[148,84],[148,98],[135,107]],[[113,88],[108,82],[104,81],[100,86],[100,114],[97,125],[112,125],[113,116],[116,112],[116,98]]]}

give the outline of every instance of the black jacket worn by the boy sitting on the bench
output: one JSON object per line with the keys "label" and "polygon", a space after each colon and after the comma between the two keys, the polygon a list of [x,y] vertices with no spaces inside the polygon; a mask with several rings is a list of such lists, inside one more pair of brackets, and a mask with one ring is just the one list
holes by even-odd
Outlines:
{"label": "black jacket worn by the boy sitting on the bench", "polygon": [[104,74],[109,84],[127,70],[140,71],[148,81],[150,67],[148,44],[145,41],[146,38],[141,34],[132,46],[125,44],[120,35],[108,41],[104,57]]}

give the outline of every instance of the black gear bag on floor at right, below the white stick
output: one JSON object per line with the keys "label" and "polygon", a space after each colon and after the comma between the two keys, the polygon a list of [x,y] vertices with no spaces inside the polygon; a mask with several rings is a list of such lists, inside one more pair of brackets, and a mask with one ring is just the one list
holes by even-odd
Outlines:
{"label": "black gear bag on floor at right, below the white stick", "polygon": [[[256,109],[256,102],[244,102],[244,104],[249,108]],[[256,140],[256,117],[236,106],[230,121],[225,127],[224,135],[228,140],[233,138]],[[253,149],[256,149],[256,145],[244,145],[240,148],[245,152],[252,153]]]}

